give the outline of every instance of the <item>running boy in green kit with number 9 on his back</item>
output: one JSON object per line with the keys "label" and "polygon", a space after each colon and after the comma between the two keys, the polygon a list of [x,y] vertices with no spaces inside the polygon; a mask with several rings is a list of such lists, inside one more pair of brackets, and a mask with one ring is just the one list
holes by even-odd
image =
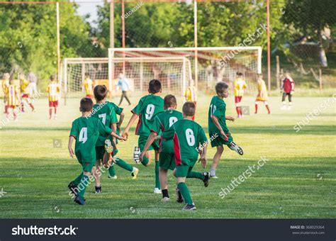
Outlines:
{"label": "running boy in green kit with number 9 on his back", "polygon": [[[123,131],[123,137],[128,137],[128,132],[130,126],[133,125],[134,121],[139,118],[137,128],[135,129],[135,135],[139,135],[138,147],[135,147],[134,160],[139,161],[140,152],[142,152],[143,147],[147,142],[150,135],[150,130],[152,129],[153,120],[157,114],[164,111],[163,99],[159,96],[162,93],[161,82],[158,79],[152,79],[148,87],[147,96],[143,96],[138,105],[133,108],[133,116],[128,121],[128,124]],[[140,149],[140,152],[139,152]],[[161,189],[159,185],[159,145],[155,141],[152,143],[151,147],[148,148],[146,155],[142,158],[142,164],[147,167],[150,165],[150,150],[155,150],[155,194],[161,194]]]}

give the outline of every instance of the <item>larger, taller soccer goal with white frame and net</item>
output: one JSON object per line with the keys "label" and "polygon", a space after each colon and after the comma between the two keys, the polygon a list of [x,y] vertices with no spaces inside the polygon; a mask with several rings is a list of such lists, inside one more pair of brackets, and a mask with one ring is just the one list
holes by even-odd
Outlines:
{"label": "larger, taller soccer goal with white frame and net", "polygon": [[233,83],[242,72],[249,89],[257,92],[262,72],[262,47],[157,47],[108,49],[109,81],[118,74],[133,79],[135,91],[147,91],[150,79],[160,79],[164,92],[182,94],[194,83],[198,90],[218,81]]}

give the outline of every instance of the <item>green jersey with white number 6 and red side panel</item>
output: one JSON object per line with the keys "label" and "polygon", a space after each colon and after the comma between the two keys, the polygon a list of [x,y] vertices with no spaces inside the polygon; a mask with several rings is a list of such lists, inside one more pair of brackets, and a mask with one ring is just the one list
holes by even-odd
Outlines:
{"label": "green jersey with white number 6 and red side panel", "polygon": [[185,164],[191,167],[194,167],[198,158],[199,145],[207,141],[201,125],[189,119],[177,120],[169,130],[162,133],[162,138],[173,140],[177,166]]}

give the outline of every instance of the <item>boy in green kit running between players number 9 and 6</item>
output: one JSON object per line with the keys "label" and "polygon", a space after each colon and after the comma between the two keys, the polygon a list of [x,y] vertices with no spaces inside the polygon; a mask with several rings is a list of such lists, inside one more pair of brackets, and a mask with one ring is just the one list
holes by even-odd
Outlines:
{"label": "boy in green kit running between players number 9 and 6", "polygon": [[[177,108],[177,99],[172,94],[169,94],[164,97],[164,112],[159,113],[154,118],[154,123],[152,129],[150,130],[150,136],[146,142],[145,147],[140,154],[140,162],[142,157],[145,156],[148,148],[152,145],[152,142],[155,141],[157,135],[160,132],[164,132],[172,127],[177,120],[183,118],[182,113],[176,111]],[[160,142],[159,149],[159,183],[162,190],[162,201],[169,201],[168,186],[167,186],[167,173],[168,170],[175,169],[175,158],[174,158],[174,146],[173,141],[169,140],[167,142]]]}

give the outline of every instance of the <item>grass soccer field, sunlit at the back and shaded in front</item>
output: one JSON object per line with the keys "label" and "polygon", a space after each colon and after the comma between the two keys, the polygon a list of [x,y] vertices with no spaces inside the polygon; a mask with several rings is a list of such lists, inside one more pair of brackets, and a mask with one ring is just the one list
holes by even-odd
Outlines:
{"label": "grass soccer field, sunlit at the back and shaded in front", "polygon": [[[133,103],[138,99],[133,98]],[[169,173],[171,201],[162,203],[153,194],[154,165],[140,169],[138,179],[116,167],[118,179],[103,174],[103,192],[94,194],[94,184],[86,189],[86,205],[78,206],[69,196],[67,184],[81,166],[69,157],[67,140],[72,120],[80,116],[79,99],[60,105],[57,120],[48,120],[47,99],[35,101],[35,113],[22,113],[17,121],[0,129],[0,218],[336,218],[335,103],[310,120],[296,133],[294,125],[328,97],[296,97],[291,111],[281,111],[280,97],[271,97],[271,115],[263,104],[259,114],[228,123],[234,141],[244,155],[225,147],[217,170],[219,179],[211,179],[208,188],[197,179],[187,184],[196,204],[194,212],[181,211],[175,201],[175,179]],[[111,99],[118,103],[118,98]],[[196,121],[207,133],[210,96],[198,100]],[[233,96],[227,102],[227,115],[236,116]],[[181,100],[179,100],[181,103]],[[254,112],[254,98],[245,97],[244,106]],[[133,106],[125,106],[125,127]],[[3,106],[1,105],[1,112]],[[178,109],[181,110],[181,104]],[[1,113],[1,120],[5,116]],[[133,147],[137,137],[118,145],[118,157],[134,164]],[[208,148],[210,169],[215,149]],[[221,189],[237,178],[249,165],[268,161],[233,191],[220,198]],[[134,164],[135,165],[135,164]],[[201,164],[194,167],[203,171]]]}

